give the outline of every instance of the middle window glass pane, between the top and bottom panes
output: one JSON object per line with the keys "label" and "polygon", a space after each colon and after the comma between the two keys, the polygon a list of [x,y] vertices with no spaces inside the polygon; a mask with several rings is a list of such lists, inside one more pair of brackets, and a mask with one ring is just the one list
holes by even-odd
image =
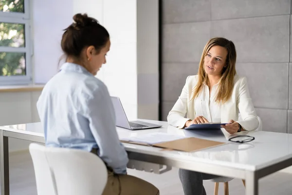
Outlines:
{"label": "middle window glass pane, between the top and bottom panes", "polygon": [[0,46],[24,47],[24,24],[0,22]]}

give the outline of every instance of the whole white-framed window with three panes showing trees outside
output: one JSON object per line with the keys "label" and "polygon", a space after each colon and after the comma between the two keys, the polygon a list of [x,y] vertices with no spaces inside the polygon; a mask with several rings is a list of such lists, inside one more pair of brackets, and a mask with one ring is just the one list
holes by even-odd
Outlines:
{"label": "whole white-framed window with three panes showing trees outside", "polygon": [[0,0],[0,85],[32,81],[29,0]]}

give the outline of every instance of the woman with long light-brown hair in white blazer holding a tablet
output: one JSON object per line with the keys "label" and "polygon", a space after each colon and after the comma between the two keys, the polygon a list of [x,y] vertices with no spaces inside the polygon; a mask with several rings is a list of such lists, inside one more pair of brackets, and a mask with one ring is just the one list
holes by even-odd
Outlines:
{"label": "woman with long light-brown hair in white blazer holding a tablet", "polygon": [[[169,112],[170,125],[221,122],[228,133],[252,131],[258,119],[245,77],[236,74],[236,49],[232,41],[210,39],[204,47],[198,75],[186,78],[181,96]],[[238,114],[241,120],[238,120]],[[179,170],[185,195],[206,195],[202,180],[216,176]]]}

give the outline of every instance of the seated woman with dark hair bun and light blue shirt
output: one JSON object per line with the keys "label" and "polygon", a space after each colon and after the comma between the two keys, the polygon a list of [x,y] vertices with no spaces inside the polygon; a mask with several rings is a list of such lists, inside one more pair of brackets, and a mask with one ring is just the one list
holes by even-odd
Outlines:
{"label": "seated woman with dark hair bun and light blue shirt", "polygon": [[37,101],[46,146],[99,156],[108,168],[103,195],[159,195],[154,185],[127,175],[128,156],[116,132],[108,89],[94,77],[106,63],[110,35],[86,14],[76,14],[73,20],[61,40],[66,62]]}

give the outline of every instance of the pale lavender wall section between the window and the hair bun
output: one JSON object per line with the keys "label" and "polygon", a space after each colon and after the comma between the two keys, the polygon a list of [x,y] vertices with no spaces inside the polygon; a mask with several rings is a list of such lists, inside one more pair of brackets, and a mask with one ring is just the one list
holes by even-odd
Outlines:
{"label": "pale lavender wall section between the window and the hair bun", "polygon": [[[46,83],[58,70],[63,30],[72,23],[72,0],[31,0],[35,83]],[[69,11],[70,10],[70,11]]]}

